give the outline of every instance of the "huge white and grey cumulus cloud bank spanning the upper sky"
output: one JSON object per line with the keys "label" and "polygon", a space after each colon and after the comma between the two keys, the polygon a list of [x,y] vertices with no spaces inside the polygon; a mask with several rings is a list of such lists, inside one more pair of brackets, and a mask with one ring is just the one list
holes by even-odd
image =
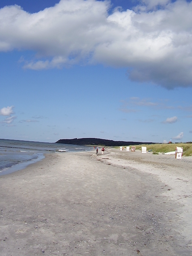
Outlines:
{"label": "huge white and grey cumulus cloud bank spanning the upper sky", "polygon": [[192,87],[192,2],[141,0],[132,10],[110,1],[61,0],[30,14],[0,9],[0,51],[32,50],[33,70],[73,64],[127,67],[133,81]]}

